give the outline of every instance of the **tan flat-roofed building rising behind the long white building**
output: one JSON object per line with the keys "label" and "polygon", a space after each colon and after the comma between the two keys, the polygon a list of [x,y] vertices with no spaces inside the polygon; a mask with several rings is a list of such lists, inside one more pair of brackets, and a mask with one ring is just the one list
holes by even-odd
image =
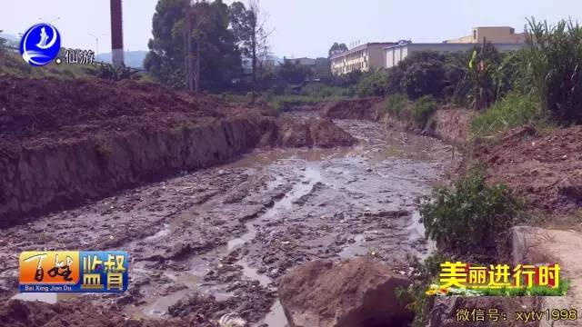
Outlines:
{"label": "tan flat-roofed building rising behind the long white building", "polygon": [[524,33],[516,33],[516,29],[509,26],[480,26],[474,27],[471,35],[447,40],[447,44],[478,44],[484,40],[494,44],[523,44],[526,42]]}

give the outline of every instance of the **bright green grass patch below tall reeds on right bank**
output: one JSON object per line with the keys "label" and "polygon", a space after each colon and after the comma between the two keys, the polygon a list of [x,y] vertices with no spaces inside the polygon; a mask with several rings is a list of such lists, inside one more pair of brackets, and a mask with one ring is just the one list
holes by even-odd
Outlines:
{"label": "bright green grass patch below tall reeds on right bank", "polygon": [[471,133],[487,136],[525,124],[533,124],[538,129],[552,125],[542,111],[537,95],[510,93],[473,119]]}

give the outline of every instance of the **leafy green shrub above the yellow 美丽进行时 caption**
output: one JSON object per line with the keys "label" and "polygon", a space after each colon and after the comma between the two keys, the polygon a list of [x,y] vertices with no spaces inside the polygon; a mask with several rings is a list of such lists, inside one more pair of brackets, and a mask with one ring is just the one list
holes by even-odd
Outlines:
{"label": "leafy green shrub above the yellow \u7f8e\u4e3d\u8fdb\u884c\u65f6 caption", "polygon": [[522,209],[505,185],[487,185],[485,175],[472,169],[453,186],[437,187],[420,213],[426,236],[440,250],[487,257],[497,253]]}

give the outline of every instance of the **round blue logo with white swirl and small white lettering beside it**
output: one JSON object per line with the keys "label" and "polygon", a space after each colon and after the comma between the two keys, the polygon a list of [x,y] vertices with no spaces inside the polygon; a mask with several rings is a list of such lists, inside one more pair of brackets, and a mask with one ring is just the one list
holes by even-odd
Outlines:
{"label": "round blue logo with white swirl and small white lettering beside it", "polygon": [[94,64],[95,53],[90,50],[65,49],[61,52],[61,35],[54,25],[37,24],[30,27],[20,40],[20,54],[27,64],[44,66],[55,61],[56,64]]}

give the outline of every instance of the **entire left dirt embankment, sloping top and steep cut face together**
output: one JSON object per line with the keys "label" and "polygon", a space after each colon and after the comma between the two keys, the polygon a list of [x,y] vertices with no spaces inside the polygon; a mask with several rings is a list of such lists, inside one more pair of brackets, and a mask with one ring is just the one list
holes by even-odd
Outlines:
{"label": "entire left dirt embankment, sloping top and steep cut face together", "polygon": [[256,146],[349,145],[331,121],[291,121],[155,84],[0,80],[0,227]]}

